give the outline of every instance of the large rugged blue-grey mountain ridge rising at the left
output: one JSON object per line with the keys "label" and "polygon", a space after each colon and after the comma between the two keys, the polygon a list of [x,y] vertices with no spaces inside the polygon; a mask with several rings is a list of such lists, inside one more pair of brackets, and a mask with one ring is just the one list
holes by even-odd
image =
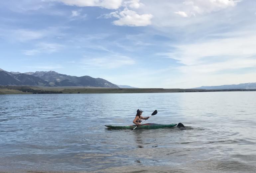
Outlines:
{"label": "large rugged blue-grey mountain ridge rising at the left", "polygon": [[0,86],[86,86],[119,88],[117,85],[101,78],[90,76],[69,76],[49,72],[7,72],[0,69]]}

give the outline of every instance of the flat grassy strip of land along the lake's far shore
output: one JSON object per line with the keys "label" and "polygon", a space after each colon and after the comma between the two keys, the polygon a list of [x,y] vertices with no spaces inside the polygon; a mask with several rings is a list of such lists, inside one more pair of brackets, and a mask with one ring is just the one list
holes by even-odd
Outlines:
{"label": "flat grassy strip of land along the lake's far shore", "polygon": [[224,92],[256,91],[256,89],[165,89],[165,88],[86,88],[0,86],[0,94],[75,94],[75,93],[169,93],[169,92]]}

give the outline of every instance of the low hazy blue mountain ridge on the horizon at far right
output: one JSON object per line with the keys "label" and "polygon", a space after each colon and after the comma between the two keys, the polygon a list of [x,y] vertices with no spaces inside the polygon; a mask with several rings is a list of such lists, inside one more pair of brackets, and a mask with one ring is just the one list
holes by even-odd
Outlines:
{"label": "low hazy blue mountain ridge on the horizon at far right", "polygon": [[256,83],[221,85],[221,86],[200,86],[192,89],[256,89]]}

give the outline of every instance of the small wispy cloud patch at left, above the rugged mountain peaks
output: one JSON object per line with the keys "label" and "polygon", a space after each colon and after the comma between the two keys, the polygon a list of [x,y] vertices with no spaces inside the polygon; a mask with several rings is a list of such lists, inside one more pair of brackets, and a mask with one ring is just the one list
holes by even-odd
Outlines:
{"label": "small wispy cloud patch at left, above the rugged mountain peaks", "polygon": [[23,53],[25,55],[33,56],[40,53],[54,53],[58,52],[60,49],[64,47],[64,45],[57,44],[57,43],[39,43],[36,45],[37,48],[30,49],[30,50],[24,50]]}

